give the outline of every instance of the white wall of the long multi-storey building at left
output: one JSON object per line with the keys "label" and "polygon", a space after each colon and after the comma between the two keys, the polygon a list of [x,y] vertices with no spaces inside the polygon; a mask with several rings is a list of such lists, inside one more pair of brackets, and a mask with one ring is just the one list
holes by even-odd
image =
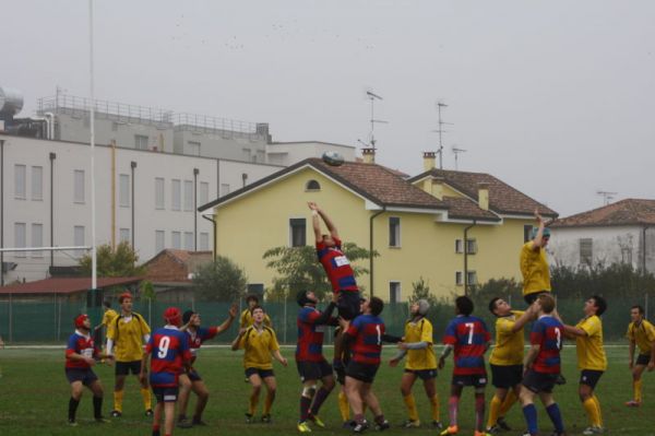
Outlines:
{"label": "white wall of the long multi-storey building at left", "polygon": [[[16,247],[15,224],[25,225],[26,247],[34,246],[33,237],[37,233],[33,225],[41,226],[40,246],[50,245],[50,160],[49,154],[55,153],[53,161],[53,232],[56,246],[75,245],[75,226],[83,227],[84,245],[91,245],[91,148],[86,144],[46,141],[28,138],[0,135],[4,143],[4,247]],[[115,156],[115,175],[111,178],[112,154]],[[95,154],[96,162],[96,243],[108,244],[114,240],[118,244],[123,235],[131,240],[134,235],[134,247],[140,261],[145,262],[158,252],[157,248],[195,248],[213,249],[213,225],[204,220],[200,213],[194,215],[196,207],[203,202],[215,199],[221,186],[234,189],[243,184],[242,175],[247,175],[247,182],[253,182],[265,177],[279,167],[239,163],[231,161],[217,161],[206,157],[181,156],[170,153],[157,153],[131,149],[98,145]],[[134,199],[131,198],[131,163],[134,168]],[[25,166],[25,198],[16,198],[16,167]],[[40,199],[32,198],[33,167],[41,168],[41,196]],[[196,201],[193,200],[193,190],[190,190],[190,202],[186,186],[194,181],[194,168],[198,169],[198,185],[195,190]],[[84,172],[84,201],[74,201],[74,172]],[[121,175],[127,176],[129,202],[121,205]],[[155,201],[155,179],[164,180],[164,205],[158,208]],[[172,180],[180,184],[180,208],[172,208]],[[112,184],[115,190],[112,191]],[[206,192],[206,195],[205,195]],[[123,192],[124,193],[124,192]],[[111,225],[112,207],[115,226]],[[134,208],[134,228],[132,228],[132,208]],[[196,234],[194,235],[194,216],[196,220]],[[156,232],[164,232],[164,247],[156,246]],[[174,246],[174,232],[179,233],[179,247]],[[188,236],[191,234],[190,236]],[[191,245],[186,245],[187,239]],[[207,246],[203,246],[203,241]],[[83,252],[67,251],[56,252],[56,266],[73,266],[78,263]],[[5,254],[4,261],[15,262],[15,270],[5,274],[5,283],[15,280],[38,280],[47,278],[50,266],[49,252]]]}

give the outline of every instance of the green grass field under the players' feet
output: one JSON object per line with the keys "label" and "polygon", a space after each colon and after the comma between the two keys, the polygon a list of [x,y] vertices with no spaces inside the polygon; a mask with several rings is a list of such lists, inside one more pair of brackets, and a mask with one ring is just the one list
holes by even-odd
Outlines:
{"label": "green grass field under the players' feet", "polygon": [[[389,358],[393,349],[386,347]],[[331,354],[332,350],[327,350]],[[226,349],[203,349],[198,369],[203,375],[212,392],[204,419],[210,427],[191,429],[176,428],[177,435],[290,435],[296,434],[298,417],[299,381],[293,361],[293,350],[283,350],[289,358],[289,367],[276,366],[278,380],[277,399],[273,406],[273,424],[246,424],[246,410],[249,385],[243,382],[240,353]],[[632,384],[628,369],[627,346],[607,347],[609,368],[597,387],[597,396],[603,405],[606,427],[614,435],[655,435],[655,375],[645,373],[644,399],[641,409],[627,409],[623,402],[631,398]],[[556,398],[562,409],[569,435],[581,434],[586,427],[586,416],[577,400],[577,370],[575,351],[567,347],[563,355],[564,375],[569,382],[556,389]],[[63,374],[63,350],[0,350],[0,435],[150,435],[151,422],[143,414],[141,396],[134,377],[129,379],[123,416],[111,424],[96,424],[92,420],[91,392],[86,390],[78,412],[80,426],[69,427],[66,423],[69,399],[69,385]],[[96,374],[105,387],[104,413],[108,415],[112,403],[112,367],[96,366]],[[448,421],[448,391],[452,361],[438,378],[442,404],[442,421]],[[380,398],[383,411],[394,427],[389,435],[416,434],[434,435],[429,428],[401,429],[397,425],[405,420],[405,408],[398,391],[401,368],[383,365],[378,373],[374,390]],[[487,400],[492,387],[487,388]],[[334,393],[334,392],[333,392]],[[429,422],[427,400],[420,386],[415,387],[419,413],[425,423]],[[263,402],[260,401],[260,405]],[[192,400],[191,405],[194,404]],[[552,429],[543,408],[539,411],[539,425],[543,434]],[[346,435],[342,429],[336,406],[336,396],[331,396],[321,413],[327,428],[315,429],[314,434]],[[507,435],[521,435],[524,428],[521,409],[515,405],[508,416],[514,428]],[[473,393],[465,391],[460,411],[460,434],[473,434]],[[373,433],[371,431],[371,433]]]}

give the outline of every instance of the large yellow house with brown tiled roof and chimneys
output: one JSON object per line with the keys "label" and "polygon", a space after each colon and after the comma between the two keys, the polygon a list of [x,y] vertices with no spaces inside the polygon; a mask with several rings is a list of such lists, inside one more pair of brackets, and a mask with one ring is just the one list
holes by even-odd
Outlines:
{"label": "large yellow house with brown tiled roof and chimneys", "polygon": [[372,161],[370,150],[364,163],[309,158],[201,207],[214,212],[216,255],[267,288],[275,271],[262,255],[313,245],[307,202],[314,201],[344,243],[379,252],[361,262],[372,272],[357,279],[367,293],[405,301],[424,278],[432,293],[450,296],[493,278],[520,280],[519,252],[535,208],[557,215],[490,175],[436,169],[431,152],[426,170],[410,179]]}

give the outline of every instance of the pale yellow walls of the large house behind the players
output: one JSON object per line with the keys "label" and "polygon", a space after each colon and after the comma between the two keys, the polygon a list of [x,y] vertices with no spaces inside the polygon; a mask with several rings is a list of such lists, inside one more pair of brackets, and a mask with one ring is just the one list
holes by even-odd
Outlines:
{"label": "pale yellow walls of the large house behind the players", "polygon": [[[305,190],[310,179],[319,181],[319,192]],[[221,207],[216,215],[217,252],[243,267],[250,283],[270,287],[275,272],[266,269],[262,255],[273,247],[289,246],[289,220],[305,219],[307,244],[314,241],[308,201],[315,201],[329,213],[344,241],[369,248],[369,219],[374,211],[367,211],[361,198],[308,168]],[[389,246],[391,216],[401,219],[401,247]],[[469,231],[478,251],[468,257],[468,270],[477,272],[478,281],[520,279],[524,224],[532,222],[505,220],[502,225],[477,225]],[[463,293],[463,286],[455,284],[455,272],[464,271],[464,255],[455,252],[455,239],[463,238],[466,225],[438,222],[434,214],[427,213],[384,212],[377,216],[373,248],[380,257],[374,260],[374,294],[389,299],[390,282],[400,282],[401,299],[407,299],[412,283],[420,278],[436,295]],[[359,264],[369,268],[368,260]],[[370,291],[368,275],[358,278],[358,284]]]}

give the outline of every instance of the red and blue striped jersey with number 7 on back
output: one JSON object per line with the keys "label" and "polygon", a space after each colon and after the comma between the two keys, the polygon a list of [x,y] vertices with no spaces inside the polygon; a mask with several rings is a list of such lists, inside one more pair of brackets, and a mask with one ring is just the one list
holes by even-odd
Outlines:
{"label": "red and blue striped jersey with number 7 on back", "polygon": [[485,321],[472,316],[457,316],[445,329],[443,343],[454,346],[453,358],[455,368],[453,375],[484,375],[485,352],[491,341],[491,334]]}

